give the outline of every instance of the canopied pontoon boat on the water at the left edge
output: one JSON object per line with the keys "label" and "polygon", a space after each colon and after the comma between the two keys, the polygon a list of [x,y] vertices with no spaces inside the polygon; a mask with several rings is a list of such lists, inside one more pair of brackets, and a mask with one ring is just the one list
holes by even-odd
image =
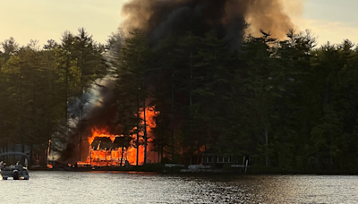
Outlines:
{"label": "canopied pontoon boat on the water at the left edge", "polygon": [[[22,153],[22,152],[10,152],[10,153],[3,153],[0,154],[0,157],[8,156],[8,155],[21,155],[26,156],[28,155]],[[6,166],[6,163],[4,161],[0,162],[0,174],[3,180],[7,180],[8,178],[13,177],[13,180],[29,180],[29,170],[28,170],[28,159],[24,159],[24,165],[22,166],[19,164],[19,162],[16,163],[16,165]]]}

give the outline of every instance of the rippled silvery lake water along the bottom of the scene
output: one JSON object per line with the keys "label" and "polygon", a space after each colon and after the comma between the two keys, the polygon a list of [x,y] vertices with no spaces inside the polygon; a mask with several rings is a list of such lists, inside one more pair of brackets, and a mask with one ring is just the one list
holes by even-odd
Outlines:
{"label": "rippled silvery lake water along the bottom of the scene", "polygon": [[30,172],[3,203],[358,203],[358,176]]}

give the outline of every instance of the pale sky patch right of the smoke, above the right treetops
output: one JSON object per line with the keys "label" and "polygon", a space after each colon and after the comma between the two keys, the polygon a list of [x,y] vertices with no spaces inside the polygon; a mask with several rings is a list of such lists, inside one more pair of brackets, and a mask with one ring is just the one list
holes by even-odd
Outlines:
{"label": "pale sky patch right of the smoke, above the right treetops", "polygon": [[328,41],[332,44],[342,43],[344,39],[358,43],[358,1],[305,0],[304,2],[301,16],[292,16],[300,30],[312,30],[318,37],[320,45],[327,44]]}

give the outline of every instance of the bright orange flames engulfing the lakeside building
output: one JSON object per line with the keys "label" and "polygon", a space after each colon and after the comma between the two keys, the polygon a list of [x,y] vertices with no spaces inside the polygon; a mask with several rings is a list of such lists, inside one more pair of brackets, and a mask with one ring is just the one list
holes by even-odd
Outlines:
{"label": "bright orange flames engulfing the lakeside building", "polygon": [[[144,118],[144,112],[141,109],[141,119]],[[146,117],[146,129],[147,135],[153,128],[156,127],[156,122],[154,117],[158,115],[155,112],[154,108],[147,107],[145,111]],[[141,125],[144,125],[144,120],[142,120]],[[127,163],[131,165],[137,164],[137,149],[132,147],[132,145],[124,145],[125,140],[124,135],[114,135],[108,132],[109,128],[98,128],[93,127],[91,130],[91,135],[88,137],[88,141],[90,144],[89,156],[85,162],[78,162],[79,166],[124,166]],[[140,143],[144,143],[144,139],[142,138],[144,132],[141,131],[139,133],[141,136]],[[134,134],[132,140],[129,143],[136,143],[136,135]],[[148,138],[148,142],[151,141],[152,138]],[[128,142],[127,142],[128,143]],[[129,147],[126,147],[129,146]],[[144,145],[140,145],[138,148],[138,164],[142,165],[144,163]]]}

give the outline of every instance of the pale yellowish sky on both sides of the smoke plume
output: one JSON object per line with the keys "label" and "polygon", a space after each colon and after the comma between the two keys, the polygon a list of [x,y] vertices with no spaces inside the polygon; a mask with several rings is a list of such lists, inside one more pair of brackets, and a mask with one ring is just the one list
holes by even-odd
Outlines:
{"label": "pale yellowish sky on both sides of the smoke plume", "polygon": [[[106,43],[123,20],[121,7],[126,0],[0,0],[0,42],[10,37],[21,45],[38,39],[59,42],[65,30],[76,33],[85,28],[93,39]],[[299,30],[312,30],[319,44],[340,43],[345,38],[358,43],[358,1],[283,0],[304,2],[302,10],[286,3],[286,13]]]}

